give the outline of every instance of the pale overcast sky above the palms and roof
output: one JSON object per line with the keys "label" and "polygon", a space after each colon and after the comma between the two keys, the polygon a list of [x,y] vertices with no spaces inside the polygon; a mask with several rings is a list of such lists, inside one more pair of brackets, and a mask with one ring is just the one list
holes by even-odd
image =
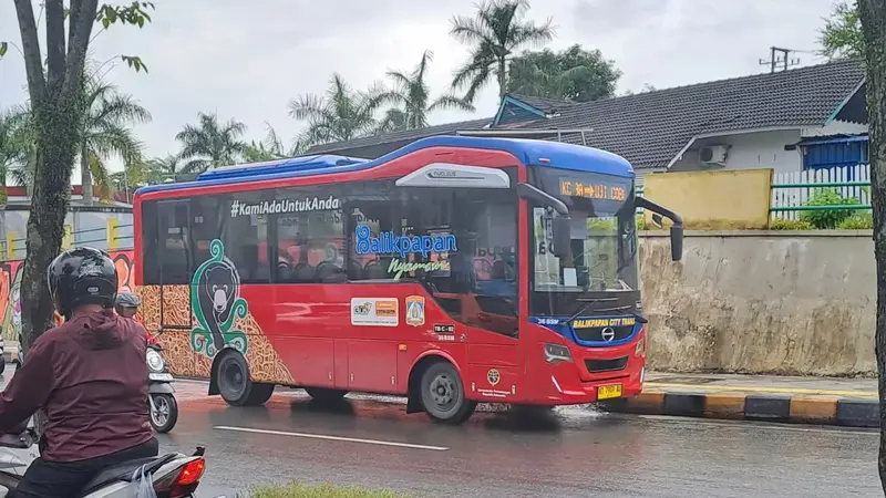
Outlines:
{"label": "pale overcast sky above the palms and roof", "polygon": [[[111,1],[111,0],[107,0]],[[128,0],[116,0],[126,3]],[[153,0],[154,22],[143,30],[113,27],[93,44],[101,62],[137,54],[150,74],[125,65],[109,73],[153,114],[138,127],[151,156],[177,151],[175,134],[197,112],[217,112],[265,136],[264,121],[290,138],[300,124],[287,103],[322,93],[333,71],[354,87],[388,69],[411,69],[425,49],[434,52],[430,82],[449,89],[467,48],[449,35],[453,14],[472,14],[472,0]],[[39,1],[34,0],[34,4]],[[645,83],[658,89],[766,71],[769,46],[817,49],[817,29],[832,0],[535,0],[527,18],[553,18],[548,46],[580,43],[600,49],[625,73],[618,93]],[[0,40],[20,44],[13,3],[0,0]],[[43,38],[41,35],[41,43]],[[822,62],[797,53],[802,63]],[[105,68],[109,68],[106,65]],[[24,69],[14,48],[0,61],[0,108],[24,100]],[[432,123],[495,113],[494,84],[476,113],[440,112]]]}

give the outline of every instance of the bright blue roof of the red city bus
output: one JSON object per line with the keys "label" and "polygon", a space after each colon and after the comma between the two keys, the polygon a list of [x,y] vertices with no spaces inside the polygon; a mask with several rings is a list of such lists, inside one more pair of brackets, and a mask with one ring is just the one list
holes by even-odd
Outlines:
{"label": "bright blue roof of the red city bus", "polygon": [[136,190],[136,194],[158,190],[179,190],[213,185],[229,185],[247,180],[268,180],[330,173],[359,172],[379,166],[415,151],[430,147],[504,151],[514,155],[526,166],[544,166],[574,172],[602,173],[607,175],[633,177],[633,168],[624,157],[581,145],[526,138],[434,136],[415,141],[372,160],[358,157],[317,155],[270,160],[266,163],[234,165],[203,173],[197,176],[197,179],[194,181],[142,187]]}

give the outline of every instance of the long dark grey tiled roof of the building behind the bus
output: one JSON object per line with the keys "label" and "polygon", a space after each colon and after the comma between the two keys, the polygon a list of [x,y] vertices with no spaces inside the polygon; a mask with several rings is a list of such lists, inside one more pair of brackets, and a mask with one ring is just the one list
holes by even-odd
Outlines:
{"label": "long dark grey tiled roof of the building behind the bus", "polygon": [[565,106],[557,117],[508,128],[591,128],[586,145],[638,169],[664,167],[697,135],[824,125],[863,77],[857,61],[832,62]]}

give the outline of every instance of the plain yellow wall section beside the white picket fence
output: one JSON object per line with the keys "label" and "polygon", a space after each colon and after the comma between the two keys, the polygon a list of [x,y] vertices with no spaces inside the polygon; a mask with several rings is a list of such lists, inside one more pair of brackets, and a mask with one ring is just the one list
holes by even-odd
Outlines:
{"label": "plain yellow wall section beside the white picket fence", "polygon": [[771,187],[772,169],[661,173],[646,176],[643,197],[679,212],[689,229],[765,229]]}

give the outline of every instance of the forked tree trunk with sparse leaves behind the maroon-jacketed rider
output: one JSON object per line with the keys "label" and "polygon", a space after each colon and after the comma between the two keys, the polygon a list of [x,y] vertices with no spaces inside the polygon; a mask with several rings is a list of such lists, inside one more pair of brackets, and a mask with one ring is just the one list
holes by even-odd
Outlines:
{"label": "forked tree trunk with sparse leaves behind the maroon-jacketed rider", "polygon": [[[22,279],[22,347],[53,324],[53,303],[44,271],[61,250],[64,217],[71,194],[71,175],[82,137],[85,62],[93,28],[116,24],[144,27],[151,21],[151,2],[102,4],[97,0],[43,0],[40,15],[34,2],[14,0],[28,82],[30,127],[35,154],[31,211],[25,238],[27,257]],[[40,43],[38,19],[44,21],[45,42]],[[8,55],[9,40],[0,40]],[[140,70],[137,56],[122,56]],[[45,64],[44,64],[45,61]],[[136,64],[137,61],[137,64]]]}

